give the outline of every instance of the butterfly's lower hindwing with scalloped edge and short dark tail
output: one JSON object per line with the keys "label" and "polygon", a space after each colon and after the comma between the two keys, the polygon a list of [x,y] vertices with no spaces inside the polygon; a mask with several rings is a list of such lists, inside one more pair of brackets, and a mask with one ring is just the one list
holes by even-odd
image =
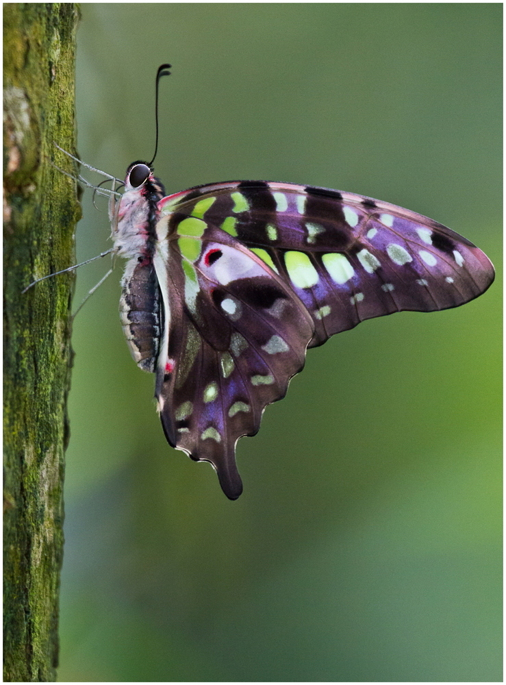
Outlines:
{"label": "butterfly's lower hindwing with scalloped edge and short dark tail", "polygon": [[236,239],[197,217],[170,221],[168,259],[155,258],[169,314],[157,370],[162,424],[174,447],[213,464],[236,499],[236,441],[284,397],[314,325],[283,279]]}

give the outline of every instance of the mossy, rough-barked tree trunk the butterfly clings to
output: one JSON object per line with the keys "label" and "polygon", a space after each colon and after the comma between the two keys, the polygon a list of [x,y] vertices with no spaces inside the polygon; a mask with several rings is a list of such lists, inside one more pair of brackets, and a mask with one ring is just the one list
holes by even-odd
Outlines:
{"label": "mossy, rough-barked tree trunk the butterfly clings to", "polygon": [[[4,3],[4,679],[55,680],[75,183],[77,5]],[[61,155],[60,155],[61,157]],[[66,164],[66,169],[70,165]]]}

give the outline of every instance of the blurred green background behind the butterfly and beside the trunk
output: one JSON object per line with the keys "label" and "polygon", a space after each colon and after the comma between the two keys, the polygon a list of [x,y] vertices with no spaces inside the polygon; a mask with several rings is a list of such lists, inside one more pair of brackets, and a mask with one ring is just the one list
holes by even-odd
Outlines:
{"label": "blurred green background behind the butterfly and beside the trunk", "polygon": [[[501,3],[83,3],[79,154],[427,214],[501,266]],[[96,177],[91,177],[97,181]],[[78,258],[107,249],[83,199]],[[60,680],[501,681],[501,283],[309,351],[244,494],[168,447],[118,320],[77,316]],[[79,269],[76,303],[107,271]],[[498,271],[501,274],[501,271]]]}

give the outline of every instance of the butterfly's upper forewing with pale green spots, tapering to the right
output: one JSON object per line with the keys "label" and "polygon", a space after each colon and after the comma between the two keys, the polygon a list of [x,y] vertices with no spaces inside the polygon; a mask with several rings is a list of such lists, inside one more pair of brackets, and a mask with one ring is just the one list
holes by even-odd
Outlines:
{"label": "butterfly's upper forewing with pale green spots, tapering to the right", "polygon": [[311,345],[401,310],[459,306],[493,280],[475,245],[425,216],[327,188],[242,182],[194,188],[163,211],[203,212],[255,250],[296,292]]}

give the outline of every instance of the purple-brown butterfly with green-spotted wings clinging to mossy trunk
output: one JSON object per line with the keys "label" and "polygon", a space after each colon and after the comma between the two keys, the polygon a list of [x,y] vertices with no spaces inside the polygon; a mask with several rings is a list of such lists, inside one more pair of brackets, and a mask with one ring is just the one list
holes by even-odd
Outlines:
{"label": "purple-brown butterfly with green-spotted wings clinging to mossy trunk", "polygon": [[258,431],[309,347],[375,316],[457,307],[494,280],[451,229],[329,188],[241,181],[166,196],[138,161],[112,205],[129,349],[156,375],[168,443],[210,462],[229,499],[242,492],[238,438]]}

